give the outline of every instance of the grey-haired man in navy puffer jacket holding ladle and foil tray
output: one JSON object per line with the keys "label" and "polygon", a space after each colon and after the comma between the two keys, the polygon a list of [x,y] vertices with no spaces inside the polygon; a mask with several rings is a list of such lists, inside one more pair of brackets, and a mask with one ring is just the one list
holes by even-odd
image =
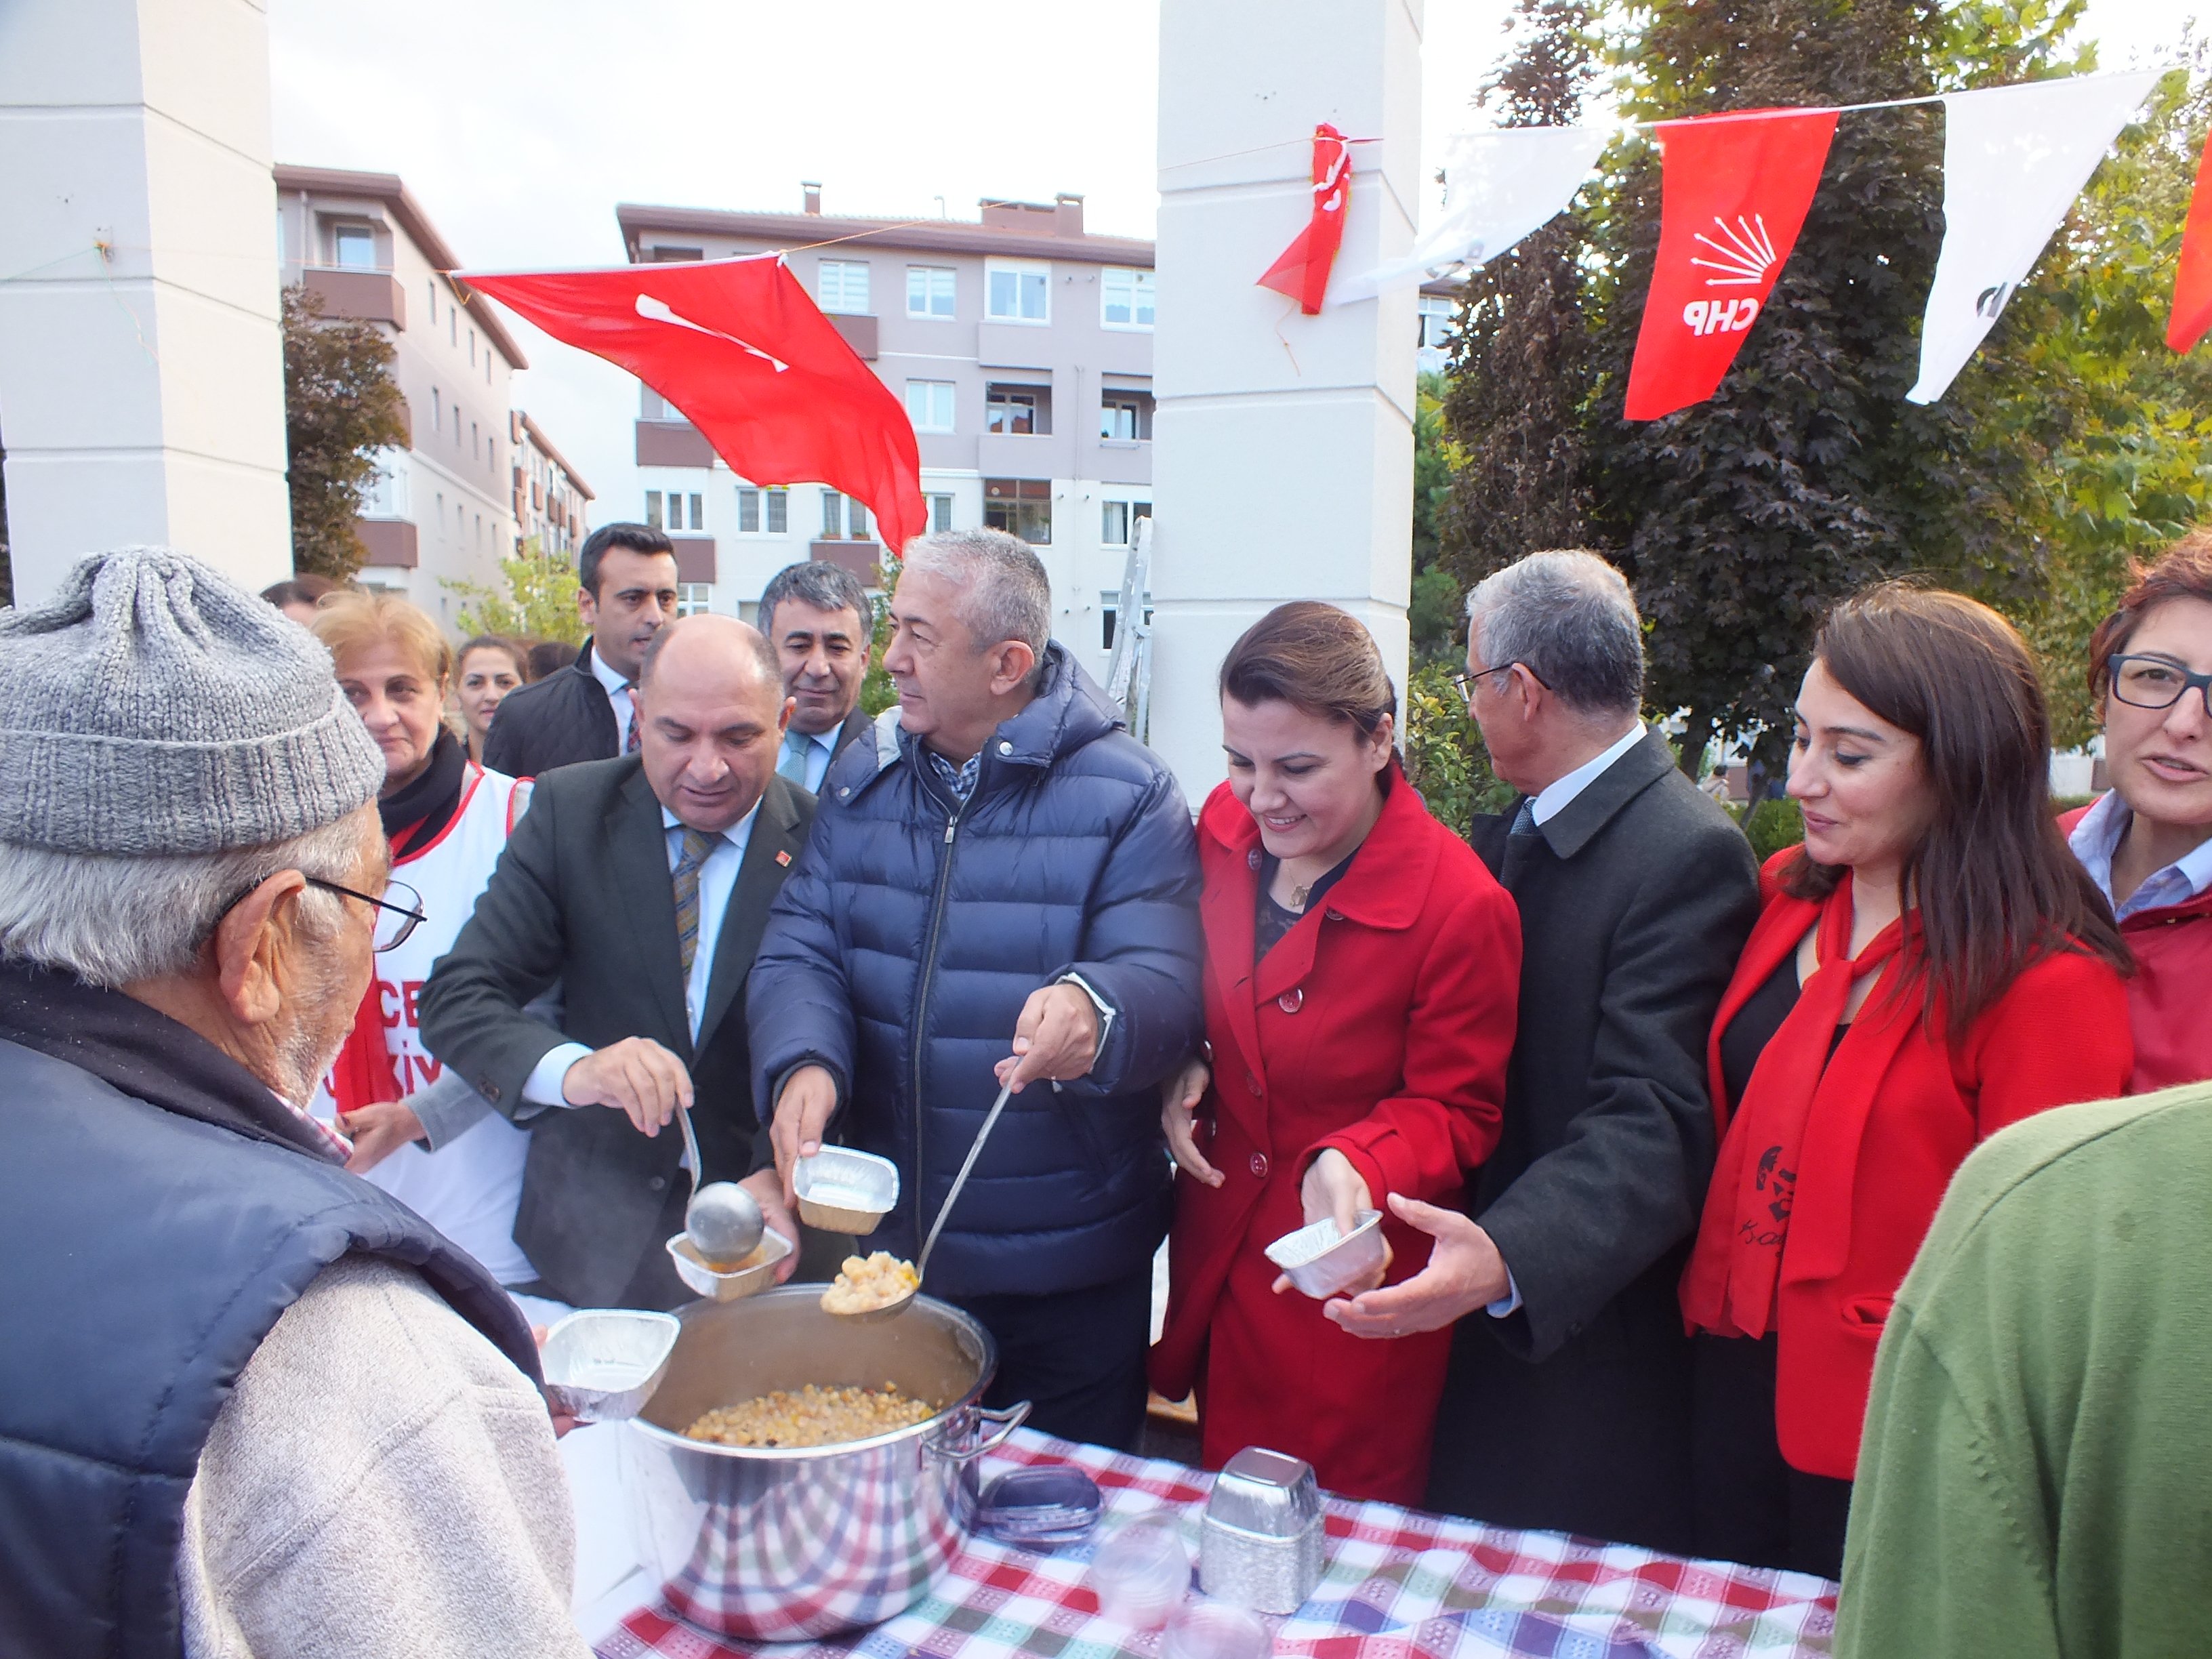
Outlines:
{"label": "grey-haired man in navy puffer jacket holding ladle and foil tray", "polygon": [[998,1338],[993,1400],[1128,1449],[1168,1228],[1159,1082],[1203,1035],[1190,810],[1051,644],[1015,538],[914,542],[891,619],[898,714],[823,776],[754,960],[754,1099],[785,1183],[834,1117],[898,1164],[865,1243],[911,1261],[1011,1082],[927,1287]]}

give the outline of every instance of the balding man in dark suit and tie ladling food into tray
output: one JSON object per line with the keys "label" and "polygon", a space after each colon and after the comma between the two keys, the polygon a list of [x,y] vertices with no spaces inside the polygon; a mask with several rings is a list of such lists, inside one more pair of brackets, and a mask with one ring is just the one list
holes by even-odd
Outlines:
{"label": "balding man in dark suit and tie ladling food into tray", "polygon": [[[580,1307],[688,1298],[664,1250],[690,1197],[679,1106],[701,1179],[754,1168],[745,975],[814,821],[774,774],[790,703],[759,633],[688,617],[641,668],[639,754],[540,779],[420,998],[429,1051],[531,1130],[515,1243]],[[524,1011],[555,980],[560,1031]],[[745,1186],[796,1243],[774,1168]]]}

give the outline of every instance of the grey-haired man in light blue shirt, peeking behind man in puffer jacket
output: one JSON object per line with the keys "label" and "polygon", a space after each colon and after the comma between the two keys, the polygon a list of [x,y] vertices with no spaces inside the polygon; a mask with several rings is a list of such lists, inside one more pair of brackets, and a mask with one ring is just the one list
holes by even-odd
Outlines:
{"label": "grey-haired man in light blue shirt, peeking behind man in puffer jacket", "polygon": [[783,734],[776,776],[821,792],[847,743],[874,732],[860,712],[872,617],[860,577],[830,560],[785,564],[761,591],[761,633],[776,648],[792,726]]}

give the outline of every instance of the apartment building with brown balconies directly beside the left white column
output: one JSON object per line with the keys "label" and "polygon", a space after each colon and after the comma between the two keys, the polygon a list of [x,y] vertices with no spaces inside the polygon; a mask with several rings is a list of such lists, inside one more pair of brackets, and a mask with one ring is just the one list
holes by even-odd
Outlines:
{"label": "apartment building with brown balconies directly beside the left white column", "polygon": [[462,299],[447,276],[460,259],[396,175],[279,166],[276,223],[283,281],[305,283],[325,316],[376,323],[394,347],[409,442],[378,458],[354,524],[369,551],[361,580],[451,628],[462,599],[445,584],[498,588],[520,535],[511,411],[529,363],[489,301]]}

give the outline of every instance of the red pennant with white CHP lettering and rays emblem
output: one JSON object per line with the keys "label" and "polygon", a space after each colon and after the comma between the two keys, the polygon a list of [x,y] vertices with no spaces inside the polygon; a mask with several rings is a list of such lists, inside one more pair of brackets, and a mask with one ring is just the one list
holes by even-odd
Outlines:
{"label": "red pennant with white CHP lettering and rays emblem", "polygon": [[1628,367],[1630,420],[1703,403],[1736,361],[1796,246],[1836,111],[1659,122],[1659,261]]}

